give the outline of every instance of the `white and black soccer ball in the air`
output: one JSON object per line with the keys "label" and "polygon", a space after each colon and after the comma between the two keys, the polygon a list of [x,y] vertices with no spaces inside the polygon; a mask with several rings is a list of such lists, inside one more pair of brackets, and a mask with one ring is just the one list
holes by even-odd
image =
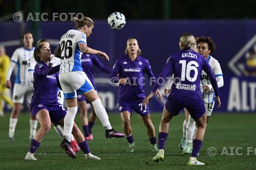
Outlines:
{"label": "white and black soccer ball in the air", "polygon": [[120,30],[125,26],[126,19],[125,16],[120,12],[114,12],[110,14],[108,18],[108,24],[113,30]]}

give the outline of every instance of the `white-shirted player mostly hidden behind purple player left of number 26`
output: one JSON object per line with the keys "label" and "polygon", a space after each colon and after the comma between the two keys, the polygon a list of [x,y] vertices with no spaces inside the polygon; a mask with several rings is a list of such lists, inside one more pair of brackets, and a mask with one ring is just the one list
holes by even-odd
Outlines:
{"label": "white-shirted player mostly hidden behind purple player left of number 26", "polygon": [[[37,41],[37,45],[42,45],[42,44],[46,44],[47,46],[50,46],[50,42],[49,40],[47,39],[40,39]],[[33,72],[34,72],[34,68],[35,68],[35,65],[37,64],[37,62],[35,61],[35,58],[34,56],[32,56],[29,60],[28,60],[28,72],[29,72],[29,79],[30,79],[30,82],[33,83],[33,79],[34,79],[34,76],[33,76]],[[57,66],[57,65],[60,65],[60,59],[55,57],[54,55],[51,55],[51,59],[49,61],[49,65],[52,65],[53,67],[54,66]],[[64,95],[63,95],[63,91],[60,90],[58,88],[58,103],[61,104],[63,106],[64,104]],[[59,125],[53,125],[55,131],[57,132],[57,134],[63,138],[63,127],[60,127]],[[78,143],[76,142],[74,136],[71,134],[71,144],[72,144],[72,149],[75,151],[75,152],[78,152],[80,150],[79,146],[78,146]]]}

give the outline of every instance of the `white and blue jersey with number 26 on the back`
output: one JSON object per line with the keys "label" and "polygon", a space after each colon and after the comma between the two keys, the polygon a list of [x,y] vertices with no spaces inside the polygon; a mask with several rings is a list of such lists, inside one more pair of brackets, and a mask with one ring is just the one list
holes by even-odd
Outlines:
{"label": "white and blue jersey with number 26 on the back", "polygon": [[72,71],[83,71],[81,66],[81,51],[79,43],[87,45],[86,34],[78,30],[69,30],[60,41],[61,65],[59,74]]}

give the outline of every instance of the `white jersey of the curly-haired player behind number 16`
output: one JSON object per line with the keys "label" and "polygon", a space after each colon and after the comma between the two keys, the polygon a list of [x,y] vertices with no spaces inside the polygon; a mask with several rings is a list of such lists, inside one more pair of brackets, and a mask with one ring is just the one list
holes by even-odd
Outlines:
{"label": "white jersey of the curly-haired player behind number 16", "polygon": [[[214,72],[215,77],[223,76],[219,61],[213,58],[212,56],[209,56],[207,60],[209,62],[209,65],[212,71]],[[204,70],[202,70],[200,89],[201,89],[201,96],[204,103],[214,102],[214,98],[215,98],[214,89],[211,88],[210,90],[205,92],[203,88],[205,85],[210,85],[210,84],[211,83],[210,83],[209,76],[206,74]]]}

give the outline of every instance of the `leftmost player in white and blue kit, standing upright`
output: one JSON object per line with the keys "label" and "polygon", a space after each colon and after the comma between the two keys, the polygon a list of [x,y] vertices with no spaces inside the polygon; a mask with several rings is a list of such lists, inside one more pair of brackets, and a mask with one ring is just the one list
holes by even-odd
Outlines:
{"label": "leftmost player in white and blue kit, standing upright", "polygon": [[[12,84],[10,81],[11,74],[15,65],[17,65],[17,75],[13,88],[13,104],[11,117],[10,117],[10,126],[9,126],[9,140],[14,140],[15,127],[18,120],[18,114],[24,102],[24,96],[26,94],[27,104],[30,104],[31,98],[33,95],[33,84],[29,80],[28,76],[28,59],[33,56],[34,47],[33,36],[31,33],[27,32],[23,35],[24,46],[17,48],[13,56],[11,57],[11,64],[8,69],[7,78],[6,78],[6,87],[11,88]],[[30,116],[30,139],[33,138],[37,127],[37,121],[35,117]]]}

